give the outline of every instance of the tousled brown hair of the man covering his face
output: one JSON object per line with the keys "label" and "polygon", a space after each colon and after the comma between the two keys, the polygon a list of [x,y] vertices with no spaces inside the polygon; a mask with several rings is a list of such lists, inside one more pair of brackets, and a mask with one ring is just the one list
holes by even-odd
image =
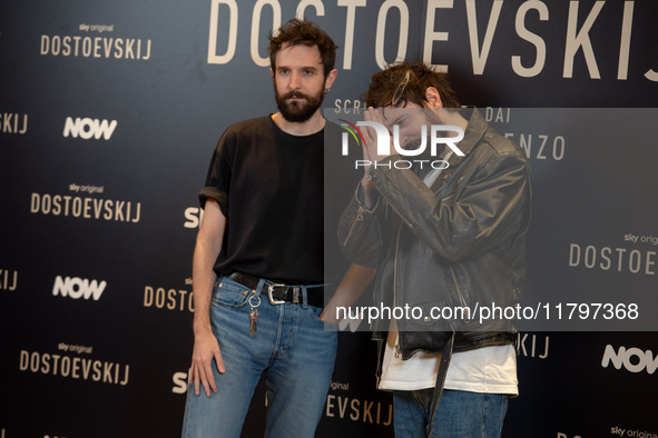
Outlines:
{"label": "tousled brown hair of the man covering his face", "polygon": [[434,71],[422,62],[392,63],[373,74],[367,91],[361,99],[366,107],[404,107],[407,102],[424,107],[425,92],[434,87],[443,108],[460,108],[456,94],[446,74]]}

